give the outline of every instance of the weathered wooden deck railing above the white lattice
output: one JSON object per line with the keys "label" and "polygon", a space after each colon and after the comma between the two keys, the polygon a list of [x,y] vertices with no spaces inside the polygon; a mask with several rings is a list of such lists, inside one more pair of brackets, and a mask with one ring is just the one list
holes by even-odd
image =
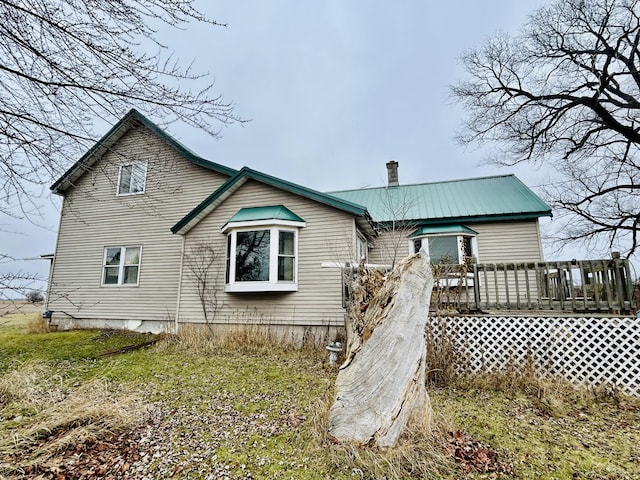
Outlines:
{"label": "weathered wooden deck railing above the white lattice", "polygon": [[[357,269],[345,269],[344,301]],[[438,264],[431,309],[633,314],[640,305],[627,259]]]}

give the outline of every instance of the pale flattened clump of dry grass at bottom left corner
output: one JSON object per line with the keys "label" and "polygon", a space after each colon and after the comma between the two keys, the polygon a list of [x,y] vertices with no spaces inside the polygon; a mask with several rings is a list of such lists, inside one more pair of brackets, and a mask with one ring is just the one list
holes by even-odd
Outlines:
{"label": "pale flattened clump of dry grass at bottom left corner", "polygon": [[29,363],[0,377],[0,451],[9,462],[0,474],[37,465],[70,446],[123,431],[147,407],[102,380],[72,383],[51,375],[46,364]]}

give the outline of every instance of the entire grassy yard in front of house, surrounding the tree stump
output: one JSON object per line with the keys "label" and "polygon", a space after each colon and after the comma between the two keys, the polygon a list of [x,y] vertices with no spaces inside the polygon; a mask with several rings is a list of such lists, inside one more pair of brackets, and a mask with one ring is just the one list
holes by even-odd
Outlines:
{"label": "entire grassy yard in front of house, surrounding the tree stump", "polygon": [[[413,424],[393,449],[338,445],[327,434],[335,370],[326,350],[290,339],[283,346],[276,333],[183,328],[152,348],[103,357],[131,339],[118,332],[18,335],[4,325],[0,342],[17,353],[4,357],[0,374],[0,478],[20,476],[21,467],[80,462],[78,445],[111,442],[140,422],[151,426],[140,457],[151,463],[136,467],[147,478],[203,478],[221,465],[230,478],[492,478],[495,471],[454,464],[452,432],[491,448],[515,478],[640,478],[637,402],[610,387],[541,378],[531,361],[456,375],[447,367],[458,354],[445,337],[432,345],[427,367],[448,382],[429,387],[431,423]],[[64,349],[68,355],[60,355]],[[20,356],[26,350],[33,353]],[[153,410],[141,396],[156,402]],[[66,457],[57,453],[69,445]],[[95,460],[87,451],[83,458]],[[153,458],[162,459],[166,475]]]}

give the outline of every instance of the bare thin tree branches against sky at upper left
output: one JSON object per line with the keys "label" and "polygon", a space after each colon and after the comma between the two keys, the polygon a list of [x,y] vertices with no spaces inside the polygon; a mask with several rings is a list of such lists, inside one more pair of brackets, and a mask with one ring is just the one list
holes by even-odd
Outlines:
{"label": "bare thin tree branches against sky at upper left", "polygon": [[[241,121],[207,74],[158,40],[154,25],[219,25],[193,3],[0,0],[0,220],[38,216],[43,186],[93,146],[97,119],[113,124],[136,107],[214,137]],[[0,285],[15,277],[3,274]]]}

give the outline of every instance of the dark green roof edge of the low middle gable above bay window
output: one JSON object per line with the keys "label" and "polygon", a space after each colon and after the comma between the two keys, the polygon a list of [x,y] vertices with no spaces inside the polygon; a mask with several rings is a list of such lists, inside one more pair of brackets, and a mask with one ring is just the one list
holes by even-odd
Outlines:
{"label": "dark green roof edge of the low middle gable above bay window", "polygon": [[191,210],[185,217],[183,217],[178,223],[171,227],[173,233],[179,233],[181,235],[186,234],[191,228],[212,212],[218,205],[224,202],[229,196],[231,196],[238,188],[244,185],[248,180],[255,180],[266,185],[284,190],[286,192],[299,195],[301,197],[314,200],[316,202],[328,205],[338,210],[350,213],[356,217],[356,222],[361,230],[369,233],[373,233],[371,226],[371,217],[369,212],[362,205],[358,205],[354,202],[344,200],[332,195],[318,192],[302,185],[297,185],[286,180],[282,180],[266,173],[252,170],[248,167],[243,167],[235,175],[229,178],[225,183],[205,198],[200,205]]}

